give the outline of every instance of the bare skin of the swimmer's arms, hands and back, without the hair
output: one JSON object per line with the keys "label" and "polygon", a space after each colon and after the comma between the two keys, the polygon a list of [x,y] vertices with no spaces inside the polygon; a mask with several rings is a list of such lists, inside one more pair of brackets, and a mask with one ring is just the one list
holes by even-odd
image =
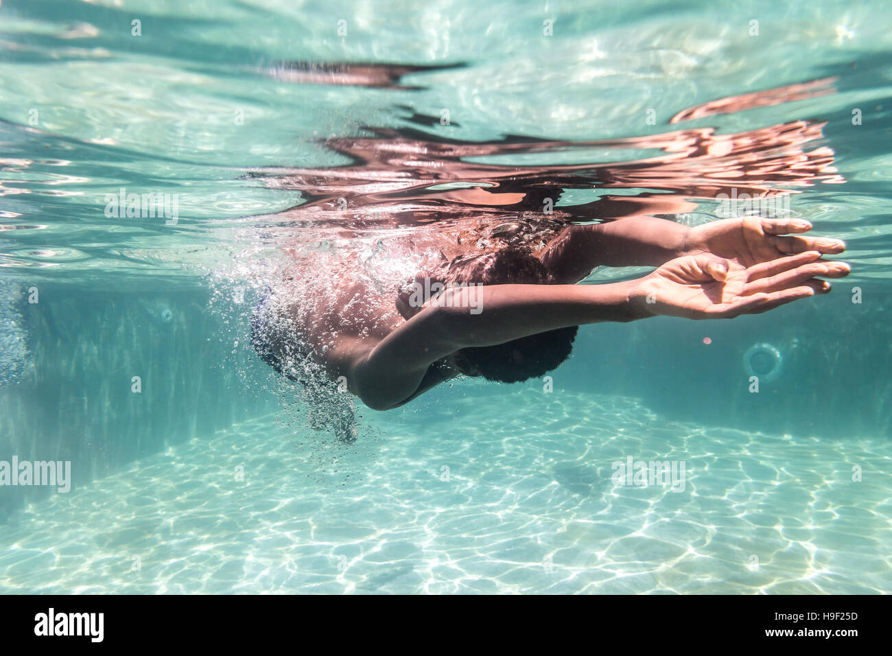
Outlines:
{"label": "bare skin of the swimmer's arms, hands and back, without the hair", "polygon": [[[443,293],[448,303],[425,303],[409,320],[394,311],[389,290],[351,275],[361,267],[353,258],[332,275],[343,282],[326,311],[301,332],[329,378],[345,378],[368,407],[389,410],[458,374],[475,375],[457,357],[467,347],[657,315],[731,319],[826,294],[830,283],[822,278],[843,278],[850,269],[822,256],[845,245],[806,236],[810,229],[805,221],[756,217],[695,228],[648,216],[569,226],[534,253],[560,284],[482,286],[475,299],[467,288],[450,289]],[[474,251],[441,246],[448,259]],[[631,281],[576,284],[601,265],[657,269]],[[469,312],[475,303],[483,311]]]}

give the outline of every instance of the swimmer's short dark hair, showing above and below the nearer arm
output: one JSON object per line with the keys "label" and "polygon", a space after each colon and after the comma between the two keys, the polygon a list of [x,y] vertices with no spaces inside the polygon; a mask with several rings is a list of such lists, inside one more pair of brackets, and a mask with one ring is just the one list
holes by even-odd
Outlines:
{"label": "swimmer's short dark hair, showing above and below the nearer arm", "polygon": [[[444,283],[555,284],[542,262],[517,248],[459,257],[443,267],[438,278]],[[459,366],[472,365],[487,380],[519,383],[557,369],[573,350],[578,330],[578,326],[557,328],[505,344],[468,347],[457,353],[456,360]]]}

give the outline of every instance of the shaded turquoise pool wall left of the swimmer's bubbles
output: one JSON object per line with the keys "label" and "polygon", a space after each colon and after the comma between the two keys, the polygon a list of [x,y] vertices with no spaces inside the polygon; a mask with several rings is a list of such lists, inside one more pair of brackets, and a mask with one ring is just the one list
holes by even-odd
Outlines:
{"label": "shaded turquoise pool wall left of the swimmer's bubbles", "polygon": [[[229,341],[207,294],[40,285],[29,303],[28,289],[5,308],[5,340],[20,349],[0,385],[0,461],[70,461],[74,489],[275,407],[274,394],[244,391],[264,365]],[[54,491],[0,487],[0,520]]]}

